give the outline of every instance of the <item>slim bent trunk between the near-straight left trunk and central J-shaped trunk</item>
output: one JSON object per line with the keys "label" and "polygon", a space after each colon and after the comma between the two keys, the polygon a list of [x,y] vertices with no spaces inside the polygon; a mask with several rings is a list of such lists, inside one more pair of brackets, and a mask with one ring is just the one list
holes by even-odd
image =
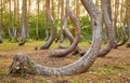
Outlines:
{"label": "slim bent trunk between the near-straight left trunk and central J-shaped trunk", "polygon": [[54,41],[54,34],[55,34],[55,27],[54,27],[54,19],[51,15],[51,12],[50,12],[50,0],[47,0],[47,3],[46,3],[46,11],[47,11],[47,15],[48,15],[48,18],[49,18],[49,22],[51,24],[51,36],[49,38],[49,40],[46,42],[44,45],[42,45],[40,47],[40,50],[44,50],[44,49],[49,49],[51,46],[51,44],[53,43]]}

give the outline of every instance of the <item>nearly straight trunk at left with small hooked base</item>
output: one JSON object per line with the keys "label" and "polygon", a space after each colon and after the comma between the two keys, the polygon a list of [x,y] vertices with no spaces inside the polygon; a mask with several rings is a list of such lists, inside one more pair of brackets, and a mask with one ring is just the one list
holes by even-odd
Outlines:
{"label": "nearly straight trunk at left with small hooked base", "polygon": [[23,0],[22,9],[22,40],[18,45],[24,45],[26,41],[26,14],[27,14],[27,0]]}

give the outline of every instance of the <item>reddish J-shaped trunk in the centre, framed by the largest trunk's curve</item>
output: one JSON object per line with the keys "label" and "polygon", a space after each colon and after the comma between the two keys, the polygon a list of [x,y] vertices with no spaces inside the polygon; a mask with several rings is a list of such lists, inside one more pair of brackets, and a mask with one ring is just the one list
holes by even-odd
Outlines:
{"label": "reddish J-shaped trunk in the centre, framed by the largest trunk's curve", "polygon": [[66,0],[66,6],[67,6],[67,13],[76,27],[75,28],[76,37],[69,47],[65,50],[53,50],[50,56],[65,56],[72,53],[77,47],[79,40],[80,40],[80,24],[79,24],[78,18],[73,14],[70,10],[69,0]]}

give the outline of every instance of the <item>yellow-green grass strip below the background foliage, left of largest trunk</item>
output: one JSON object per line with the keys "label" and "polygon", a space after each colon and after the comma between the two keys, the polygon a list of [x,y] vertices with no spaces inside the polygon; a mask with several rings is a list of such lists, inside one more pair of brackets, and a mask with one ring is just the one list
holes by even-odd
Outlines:
{"label": "yellow-green grass strip below the background foliage, left of largest trunk", "polygon": [[[40,47],[46,41],[35,41],[28,39],[24,45],[20,46],[18,42],[12,42],[12,41],[9,42],[9,40],[4,40],[4,42],[0,44],[0,51],[35,49],[36,46]],[[69,46],[69,41],[65,41],[63,45]],[[88,42],[80,42],[79,46],[89,47],[90,44]],[[53,42],[51,49],[56,49],[56,47],[58,47],[58,43]]]}

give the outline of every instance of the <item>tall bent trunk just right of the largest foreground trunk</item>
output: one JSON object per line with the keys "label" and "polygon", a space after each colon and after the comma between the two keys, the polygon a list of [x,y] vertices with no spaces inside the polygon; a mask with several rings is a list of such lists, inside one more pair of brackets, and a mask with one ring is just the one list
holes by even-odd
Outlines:
{"label": "tall bent trunk just right of the largest foreground trunk", "polygon": [[99,53],[100,57],[105,56],[113,49],[113,45],[114,45],[114,29],[113,29],[112,20],[108,16],[106,0],[102,0],[102,14],[103,14],[103,18],[106,25],[108,44],[106,45],[106,47],[100,51]]}

